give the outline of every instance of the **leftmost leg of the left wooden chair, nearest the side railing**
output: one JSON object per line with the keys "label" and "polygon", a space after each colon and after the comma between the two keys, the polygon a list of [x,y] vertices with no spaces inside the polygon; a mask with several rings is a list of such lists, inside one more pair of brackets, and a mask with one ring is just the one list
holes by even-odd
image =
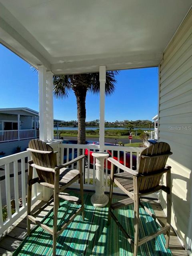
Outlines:
{"label": "leftmost leg of the left wooden chair, nearest the side railing", "polygon": [[32,166],[28,166],[28,194],[27,194],[27,234],[30,236],[31,228],[30,224],[31,221],[28,218],[28,215],[31,214],[31,198],[32,198],[32,185],[30,184],[30,181],[33,177],[33,168]]}

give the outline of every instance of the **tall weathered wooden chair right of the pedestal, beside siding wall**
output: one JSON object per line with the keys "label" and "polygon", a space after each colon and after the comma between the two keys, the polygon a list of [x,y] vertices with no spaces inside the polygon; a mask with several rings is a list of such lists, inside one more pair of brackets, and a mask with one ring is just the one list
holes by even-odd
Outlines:
{"label": "tall weathered wooden chair right of the pedestal, beside siding wall", "polygon": [[[140,162],[138,170],[131,170],[120,164],[113,158],[108,158],[108,161],[112,163],[111,174],[110,174],[110,199],[109,199],[109,215],[108,224],[110,224],[110,218],[115,220],[121,231],[124,233],[128,242],[132,244],[134,248],[134,256],[137,256],[138,246],[148,242],[152,238],[166,232],[166,247],[169,245],[170,236],[170,222],[171,222],[171,167],[166,166],[168,156],[170,156],[169,144],[165,142],[156,143],[146,149],[140,154]],[[114,166],[124,170],[123,173],[114,174]],[[166,173],[166,186],[160,184],[162,175]],[[112,192],[113,183],[115,183],[122,191],[124,191],[129,197],[112,203]],[[167,193],[167,222],[164,225],[158,216],[155,216],[142,204],[140,201],[141,196],[151,194],[158,190],[164,190]],[[118,222],[118,219],[114,215],[112,210],[124,207],[128,204],[134,204],[134,240],[131,239],[130,235],[124,230],[122,225]],[[148,214],[154,220],[160,224],[161,228],[157,232],[150,234],[139,240],[139,205],[146,210]]]}

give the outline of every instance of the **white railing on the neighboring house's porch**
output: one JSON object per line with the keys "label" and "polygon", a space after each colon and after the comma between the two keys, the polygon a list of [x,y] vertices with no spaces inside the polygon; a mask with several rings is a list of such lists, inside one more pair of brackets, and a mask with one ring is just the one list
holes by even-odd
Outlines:
{"label": "white railing on the neighboring house's porch", "polygon": [[26,140],[36,138],[36,130],[19,130],[19,137],[18,137],[18,130],[7,130],[7,131],[0,131],[0,142],[8,142],[14,140]]}

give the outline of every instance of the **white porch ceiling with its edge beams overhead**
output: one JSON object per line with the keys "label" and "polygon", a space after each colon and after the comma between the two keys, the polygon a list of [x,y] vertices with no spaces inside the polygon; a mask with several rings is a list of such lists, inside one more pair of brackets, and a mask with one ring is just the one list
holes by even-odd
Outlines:
{"label": "white porch ceiling with its edge beams overhead", "polygon": [[191,0],[0,0],[0,42],[55,74],[157,66]]}

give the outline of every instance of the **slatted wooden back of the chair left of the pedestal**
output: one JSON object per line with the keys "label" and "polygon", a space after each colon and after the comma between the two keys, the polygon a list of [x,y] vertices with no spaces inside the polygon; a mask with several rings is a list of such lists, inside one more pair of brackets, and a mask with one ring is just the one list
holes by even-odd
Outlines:
{"label": "slatted wooden back of the chair left of the pedestal", "polygon": [[[35,140],[30,140],[28,147],[36,150],[52,151],[50,154],[42,154],[37,152],[30,152],[30,153],[31,153],[34,164],[37,164],[43,167],[48,167],[48,168],[56,167],[57,165],[56,153],[54,153],[54,150],[51,146],[49,146],[42,140],[35,139]],[[42,182],[54,184],[53,172],[42,171],[37,168],[36,168],[36,171]]]}

